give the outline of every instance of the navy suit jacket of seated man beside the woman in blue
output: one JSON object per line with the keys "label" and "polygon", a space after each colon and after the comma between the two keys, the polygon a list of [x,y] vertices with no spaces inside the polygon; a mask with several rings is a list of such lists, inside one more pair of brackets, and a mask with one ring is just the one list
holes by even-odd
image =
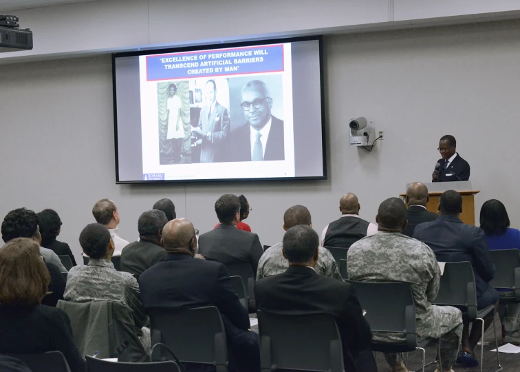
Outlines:
{"label": "navy suit jacket of seated man beside the woman in blue", "polygon": [[415,227],[413,238],[428,245],[437,261],[469,261],[475,272],[477,296],[488,289],[488,282],[495,276],[495,264],[491,260],[484,230],[466,225],[457,216],[440,215],[437,220]]}

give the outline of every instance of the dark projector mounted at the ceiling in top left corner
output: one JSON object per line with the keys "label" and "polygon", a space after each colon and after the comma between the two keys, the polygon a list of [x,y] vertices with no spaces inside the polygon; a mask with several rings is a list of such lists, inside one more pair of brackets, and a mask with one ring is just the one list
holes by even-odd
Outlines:
{"label": "dark projector mounted at the ceiling in top left corner", "polygon": [[0,53],[32,49],[32,31],[19,28],[17,16],[0,14]]}

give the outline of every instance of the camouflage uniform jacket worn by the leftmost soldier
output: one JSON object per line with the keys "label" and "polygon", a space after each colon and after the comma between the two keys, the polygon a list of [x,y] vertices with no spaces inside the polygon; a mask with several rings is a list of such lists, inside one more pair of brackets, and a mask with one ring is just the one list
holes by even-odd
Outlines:
{"label": "camouflage uniform jacket worn by the leftmost soldier", "polygon": [[70,269],[63,298],[72,302],[122,302],[133,310],[136,333],[144,347],[148,346],[149,329],[142,328],[148,324],[149,319],[142,307],[138,281],[131,273],[114,269],[111,261],[91,258],[89,265]]}

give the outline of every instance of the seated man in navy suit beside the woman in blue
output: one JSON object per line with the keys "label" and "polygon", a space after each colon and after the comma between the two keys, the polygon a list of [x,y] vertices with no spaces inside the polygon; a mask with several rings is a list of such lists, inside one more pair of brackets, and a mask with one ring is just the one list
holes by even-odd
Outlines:
{"label": "seated man in navy suit beside the woman in blue", "polygon": [[[475,272],[477,285],[477,307],[484,309],[490,304],[498,307],[498,293],[489,285],[495,275],[486,236],[478,227],[466,225],[459,219],[462,213],[462,196],[456,191],[448,190],[442,193],[439,203],[440,216],[435,221],[422,223],[415,227],[413,238],[416,238],[433,250],[439,262],[469,261]],[[484,330],[493,320],[492,315],[484,317]],[[462,331],[462,350],[457,363],[467,367],[478,366],[473,349],[482,336],[480,324],[471,328],[464,322]]]}

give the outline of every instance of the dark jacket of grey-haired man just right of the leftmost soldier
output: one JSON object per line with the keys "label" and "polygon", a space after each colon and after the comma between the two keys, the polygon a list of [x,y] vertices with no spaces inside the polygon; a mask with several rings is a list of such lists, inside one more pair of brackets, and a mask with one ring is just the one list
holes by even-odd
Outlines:
{"label": "dark jacket of grey-haired man just right of the leftmost soldier", "polygon": [[133,273],[136,278],[146,269],[166,257],[166,251],[154,242],[140,240],[131,242],[123,248],[121,253],[121,271]]}

